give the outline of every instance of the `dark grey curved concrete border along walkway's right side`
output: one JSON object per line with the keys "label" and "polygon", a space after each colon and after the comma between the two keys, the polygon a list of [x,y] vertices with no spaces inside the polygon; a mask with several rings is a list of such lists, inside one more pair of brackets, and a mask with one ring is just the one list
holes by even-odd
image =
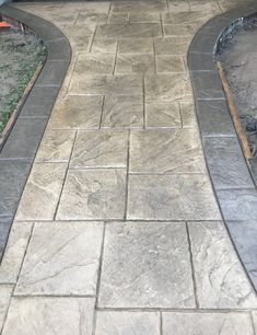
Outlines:
{"label": "dark grey curved concrete border along walkway's right side", "polygon": [[225,33],[255,12],[257,3],[208,21],[194,37],[188,67],[212,186],[234,246],[257,289],[257,190],[214,62]]}

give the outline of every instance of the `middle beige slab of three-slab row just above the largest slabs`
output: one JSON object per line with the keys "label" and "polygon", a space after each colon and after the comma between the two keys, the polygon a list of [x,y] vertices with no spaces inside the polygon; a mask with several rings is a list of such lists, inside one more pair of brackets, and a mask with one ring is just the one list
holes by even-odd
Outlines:
{"label": "middle beige slab of three-slab row just above the largest slabs", "polygon": [[126,171],[70,170],[57,212],[58,220],[122,219]]}

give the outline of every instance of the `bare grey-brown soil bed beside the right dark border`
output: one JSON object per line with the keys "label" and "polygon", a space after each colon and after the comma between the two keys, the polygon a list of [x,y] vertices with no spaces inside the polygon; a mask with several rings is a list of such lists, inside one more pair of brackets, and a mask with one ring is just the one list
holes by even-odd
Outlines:
{"label": "bare grey-brown soil bed beside the right dark border", "polygon": [[234,94],[253,155],[257,157],[257,18],[245,20],[227,36],[217,58]]}

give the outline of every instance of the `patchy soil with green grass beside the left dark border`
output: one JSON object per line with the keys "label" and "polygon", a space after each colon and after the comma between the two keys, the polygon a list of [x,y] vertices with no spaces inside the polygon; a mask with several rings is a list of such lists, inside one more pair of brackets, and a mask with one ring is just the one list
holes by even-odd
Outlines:
{"label": "patchy soil with green grass beside the left dark border", "polygon": [[0,30],[0,135],[45,57],[46,49],[33,32]]}

